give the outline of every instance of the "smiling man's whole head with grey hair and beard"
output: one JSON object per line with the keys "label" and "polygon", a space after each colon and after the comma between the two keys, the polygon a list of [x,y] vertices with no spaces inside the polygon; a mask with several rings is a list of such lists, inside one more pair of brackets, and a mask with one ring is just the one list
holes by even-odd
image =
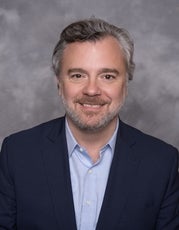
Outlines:
{"label": "smiling man's whole head with grey hair and beard", "polygon": [[62,31],[52,61],[71,127],[112,127],[134,71],[128,32],[100,19],[75,22]]}

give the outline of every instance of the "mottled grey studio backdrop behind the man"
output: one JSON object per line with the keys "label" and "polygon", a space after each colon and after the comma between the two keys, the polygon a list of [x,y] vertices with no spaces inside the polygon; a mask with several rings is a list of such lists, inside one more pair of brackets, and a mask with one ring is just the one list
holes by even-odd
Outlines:
{"label": "mottled grey studio backdrop behind the man", "polygon": [[137,68],[121,117],[179,148],[178,0],[0,0],[0,144],[63,114],[52,50],[64,26],[92,15],[135,40]]}

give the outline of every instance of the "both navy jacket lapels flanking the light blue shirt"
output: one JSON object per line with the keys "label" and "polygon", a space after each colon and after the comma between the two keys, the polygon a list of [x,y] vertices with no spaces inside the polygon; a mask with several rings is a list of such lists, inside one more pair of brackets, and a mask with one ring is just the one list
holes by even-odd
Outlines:
{"label": "both navy jacket lapels flanking the light blue shirt", "polygon": [[[119,130],[97,230],[115,229],[139,165],[133,129],[120,120]],[[76,230],[64,117],[53,122],[43,146],[44,168],[57,223],[61,229]]]}

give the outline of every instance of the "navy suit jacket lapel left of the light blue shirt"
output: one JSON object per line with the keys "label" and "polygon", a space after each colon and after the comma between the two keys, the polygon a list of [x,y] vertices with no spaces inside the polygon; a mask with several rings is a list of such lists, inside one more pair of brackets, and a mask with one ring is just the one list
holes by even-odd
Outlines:
{"label": "navy suit jacket lapel left of the light blue shirt", "polygon": [[60,229],[76,230],[65,122],[54,125],[45,137],[42,158],[56,221]]}

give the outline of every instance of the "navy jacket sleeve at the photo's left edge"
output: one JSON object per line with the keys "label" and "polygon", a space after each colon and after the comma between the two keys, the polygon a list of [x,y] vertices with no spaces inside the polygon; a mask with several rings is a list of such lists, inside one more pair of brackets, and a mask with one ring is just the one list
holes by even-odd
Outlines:
{"label": "navy jacket sleeve at the photo's left edge", "polygon": [[16,229],[16,199],[10,176],[7,139],[0,153],[0,230]]}

